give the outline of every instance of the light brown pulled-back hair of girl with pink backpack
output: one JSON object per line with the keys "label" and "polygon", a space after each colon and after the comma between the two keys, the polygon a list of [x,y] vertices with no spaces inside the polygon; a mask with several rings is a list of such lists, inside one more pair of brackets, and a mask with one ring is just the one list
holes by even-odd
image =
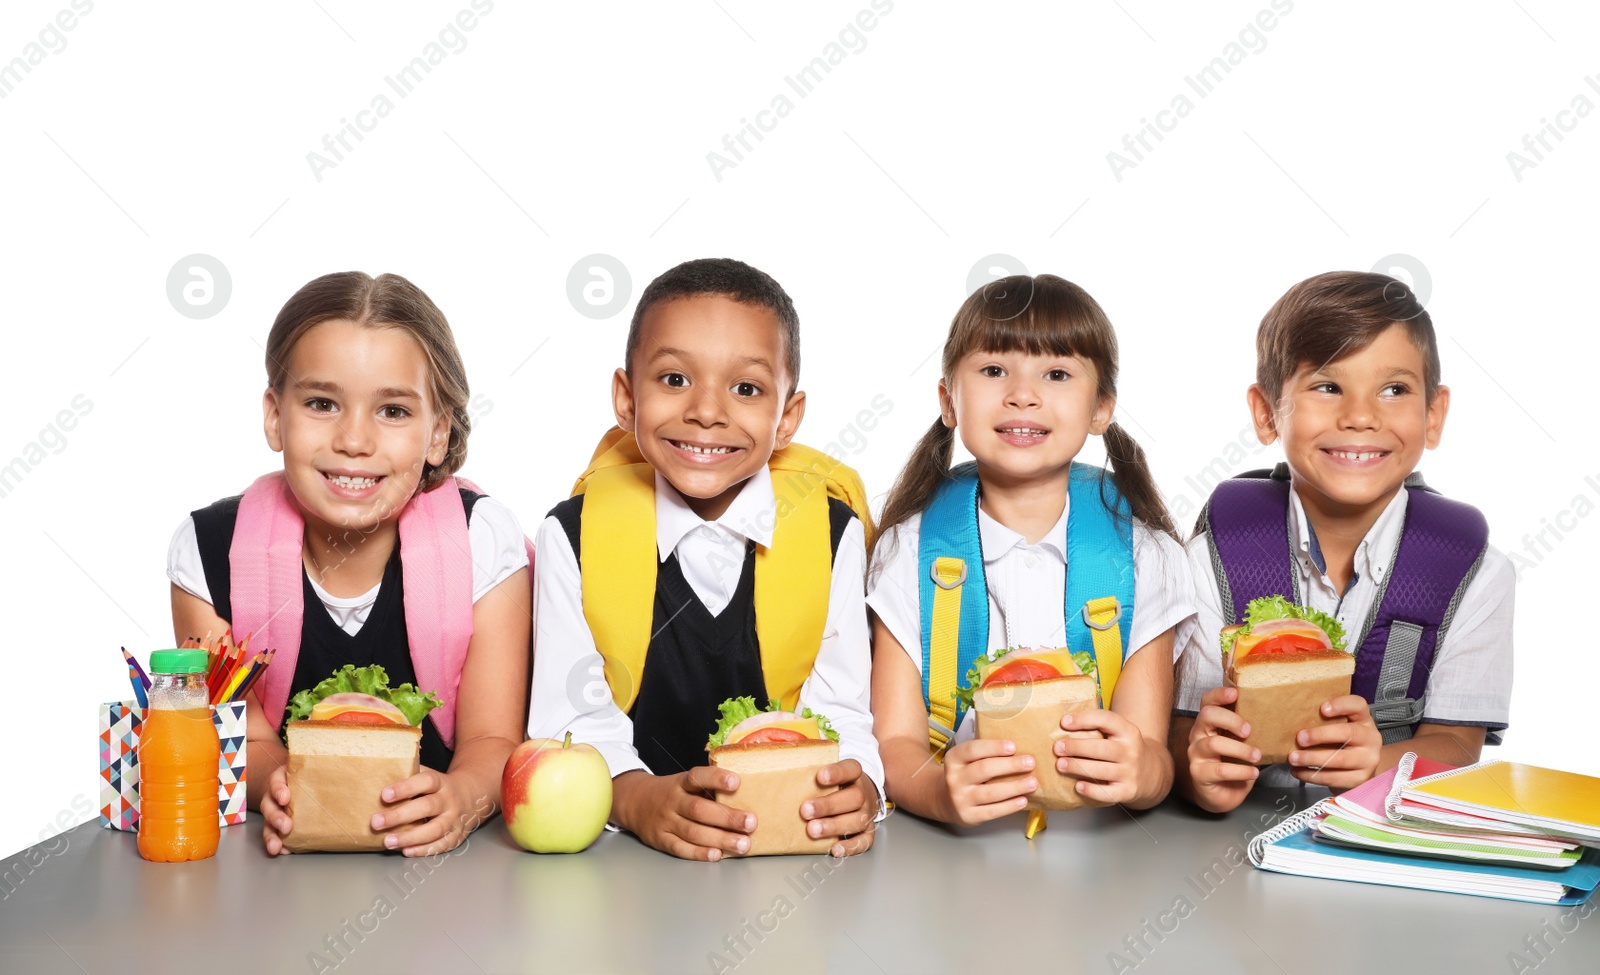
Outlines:
{"label": "light brown pulled-back hair of girl with pink backpack", "polygon": [[267,333],[267,384],[278,392],[288,379],[290,352],[294,343],[323,322],[347,320],[368,328],[397,328],[422,346],[427,355],[435,408],[450,413],[450,445],[437,467],[422,466],[419,492],[432,490],[467,461],[467,367],[461,362],[456,338],[450,333],[445,312],[398,274],[376,279],[360,271],[325,274],[283,303],[272,331]]}

